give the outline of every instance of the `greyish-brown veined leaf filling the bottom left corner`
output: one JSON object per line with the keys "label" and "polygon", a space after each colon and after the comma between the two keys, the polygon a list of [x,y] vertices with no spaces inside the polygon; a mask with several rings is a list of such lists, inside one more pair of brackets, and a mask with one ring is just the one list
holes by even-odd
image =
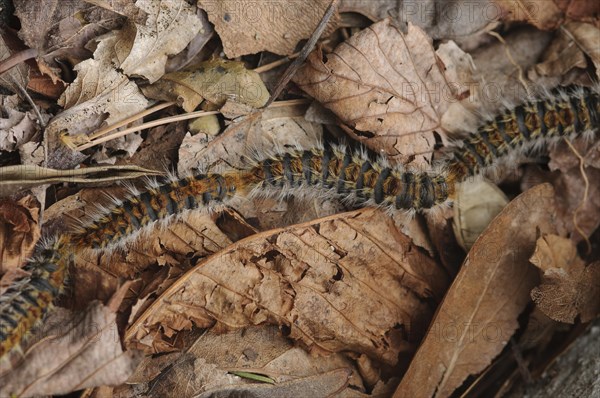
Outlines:
{"label": "greyish-brown veined leaf filling the bottom left corner", "polygon": [[17,365],[0,365],[0,395],[59,395],[124,383],[141,359],[122,350],[115,313],[98,302],[84,313],[58,308],[32,341]]}

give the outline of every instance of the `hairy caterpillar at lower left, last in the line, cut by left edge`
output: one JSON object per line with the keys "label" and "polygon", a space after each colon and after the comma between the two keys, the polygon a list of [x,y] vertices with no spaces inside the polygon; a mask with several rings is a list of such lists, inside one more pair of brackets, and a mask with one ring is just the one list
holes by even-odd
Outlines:
{"label": "hairy caterpillar at lower left, last in the line, cut by left edge", "polygon": [[0,358],[28,336],[63,292],[71,250],[68,237],[44,245],[23,270],[29,275],[8,287],[0,297]]}

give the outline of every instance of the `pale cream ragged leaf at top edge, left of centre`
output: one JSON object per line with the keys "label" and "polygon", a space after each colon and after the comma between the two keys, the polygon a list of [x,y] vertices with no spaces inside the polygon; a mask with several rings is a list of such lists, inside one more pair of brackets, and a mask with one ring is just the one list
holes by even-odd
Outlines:
{"label": "pale cream ragged leaf at top edge, left of centre", "polygon": [[196,10],[185,0],[138,0],[148,14],[144,25],[135,23],[117,33],[121,69],[154,83],[165,73],[170,55],[181,52],[202,27]]}

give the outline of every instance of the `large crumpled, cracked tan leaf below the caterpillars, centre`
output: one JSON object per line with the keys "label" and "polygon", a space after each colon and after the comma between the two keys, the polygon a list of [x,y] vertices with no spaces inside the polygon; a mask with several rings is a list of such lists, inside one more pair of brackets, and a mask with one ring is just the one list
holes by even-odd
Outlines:
{"label": "large crumpled, cracked tan leaf below the caterpillars, centre", "polygon": [[[381,211],[364,210],[244,239],[185,274],[133,324],[159,330],[273,324],[313,352],[354,351],[395,364],[441,298],[445,272]],[[153,341],[154,340],[154,341]]]}

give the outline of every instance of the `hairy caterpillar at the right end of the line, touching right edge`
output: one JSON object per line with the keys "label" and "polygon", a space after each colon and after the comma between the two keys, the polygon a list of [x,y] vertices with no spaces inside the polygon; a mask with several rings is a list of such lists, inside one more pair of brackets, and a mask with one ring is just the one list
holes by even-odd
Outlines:
{"label": "hairy caterpillar at the right end of the line, touching right edge", "polygon": [[600,87],[570,87],[525,102],[483,124],[452,151],[450,179],[460,182],[512,155],[593,132],[599,125]]}

